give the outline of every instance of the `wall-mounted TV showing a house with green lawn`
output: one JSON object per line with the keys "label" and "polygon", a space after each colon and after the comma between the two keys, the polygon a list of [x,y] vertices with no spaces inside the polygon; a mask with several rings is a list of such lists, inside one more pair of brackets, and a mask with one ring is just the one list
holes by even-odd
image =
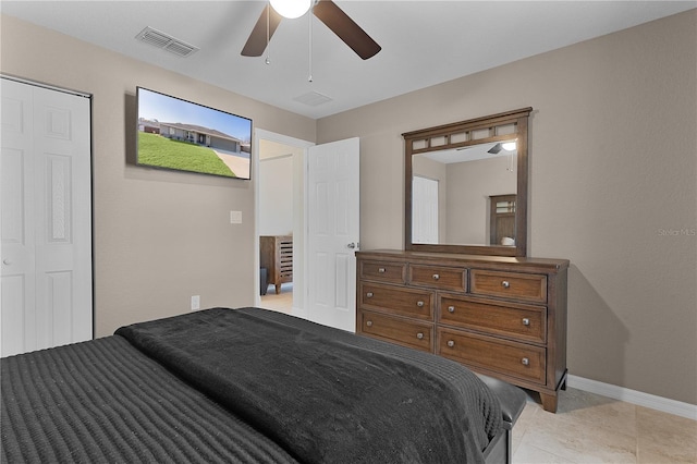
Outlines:
{"label": "wall-mounted TV showing a house with green lawn", "polygon": [[136,87],[136,163],[250,179],[252,120]]}

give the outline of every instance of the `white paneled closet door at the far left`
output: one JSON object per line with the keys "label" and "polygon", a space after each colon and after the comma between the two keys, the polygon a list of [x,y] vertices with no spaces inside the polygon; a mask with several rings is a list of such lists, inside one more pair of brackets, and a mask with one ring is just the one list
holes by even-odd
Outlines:
{"label": "white paneled closet door at the far left", "polygon": [[2,78],[2,356],[93,338],[90,109]]}

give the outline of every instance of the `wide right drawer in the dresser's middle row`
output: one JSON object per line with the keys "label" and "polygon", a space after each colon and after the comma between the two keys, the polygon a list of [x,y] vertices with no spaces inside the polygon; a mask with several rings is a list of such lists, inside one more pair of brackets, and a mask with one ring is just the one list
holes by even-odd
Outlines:
{"label": "wide right drawer in the dresser's middle row", "polygon": [[547,342],[547,308],[441,294],[438,321],[515,340]]}

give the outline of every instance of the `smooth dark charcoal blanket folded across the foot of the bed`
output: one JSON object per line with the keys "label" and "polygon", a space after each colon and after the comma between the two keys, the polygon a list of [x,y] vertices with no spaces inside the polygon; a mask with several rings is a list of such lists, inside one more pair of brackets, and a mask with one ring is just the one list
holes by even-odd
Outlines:
{"label": "smooth dark charcoal blanket folded across the foot of the bed", "polygon": [[304,463],[477,463],[501,427],[456,363],[278,313],[216,308],[117,334]]}

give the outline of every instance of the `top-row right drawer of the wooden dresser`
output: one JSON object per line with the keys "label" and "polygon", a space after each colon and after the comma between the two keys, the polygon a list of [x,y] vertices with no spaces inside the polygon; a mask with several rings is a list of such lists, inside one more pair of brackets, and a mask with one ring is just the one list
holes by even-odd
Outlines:
{"label": "top-row right drawer of the wooden dresser", "polygon": [[469,293],[547,303],[547,276],[472,269]]}

